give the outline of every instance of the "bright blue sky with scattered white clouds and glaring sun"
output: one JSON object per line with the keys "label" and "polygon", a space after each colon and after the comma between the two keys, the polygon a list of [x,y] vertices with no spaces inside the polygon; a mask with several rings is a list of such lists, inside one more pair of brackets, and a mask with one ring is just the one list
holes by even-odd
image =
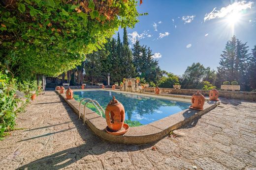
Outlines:
{"label": "bright blue sky with scattered white clouds and glaring sun", "polygon": [[150,47],[160,69],[177,75],[193,62],[217,70],[233,35],[256,45],[256,0],[143,0],[137,10],[148,15],[127,29],[129,44]]}

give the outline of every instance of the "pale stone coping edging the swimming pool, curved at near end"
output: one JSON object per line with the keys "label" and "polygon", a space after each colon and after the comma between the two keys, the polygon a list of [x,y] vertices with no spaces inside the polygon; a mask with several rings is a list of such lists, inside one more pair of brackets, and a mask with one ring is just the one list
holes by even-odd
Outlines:
{"label": "pale stone coping edging the swimming pool, curved at near end", "polygon": [[[59,91],[56,91],[56,93],[59,94],[67,102],[67,104],[74,110],[76,114],[79,114],[78,101],[76,101],[75,99],[67,100],[65,94],[60,94]],[[142,96],[142,94],[140,95]],[[157,97],[157,95],[152,96]],[[105,128],[107,126],[105,119],[96,114],[88,107],[86,107],[86,122],[87,125],[96,133],[97,136],[105,140],[122,144],[145,144],[160,140],[161,138],[169,134],[172,130],[177,129],[188,122],[191,122],[195,118],[199,118],[201,115],[214,109],[219,104],[219,101],[207,101],[205,102],[204,110],[202,111],[186,109],[179,113],[170,115],[168,117],[146,125],[130,127],[129,131],[126,134],[120,136],[108,134],[105,131]],[[81,110],[83,110],[83,107],[81,108]]]}

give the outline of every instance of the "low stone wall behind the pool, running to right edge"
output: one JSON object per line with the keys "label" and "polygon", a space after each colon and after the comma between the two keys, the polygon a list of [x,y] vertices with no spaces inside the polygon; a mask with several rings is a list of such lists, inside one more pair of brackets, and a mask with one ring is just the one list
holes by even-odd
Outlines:
{"label": "low stone wall behind the pool, running to right edge", "polygon": [[[176,94],[176,95],[193,95],[199,91],[204,96],[209,96],[209,90],[197,90],[197,89],[171,89],[171,88],[160,88],[160,93]],[[145,92],[153,92],[154,87],[145,88]],[[256,101],[256,92],[238,92],[238,91],[223,91],[220,90],[220,97],[244,99],[250,101]]]}

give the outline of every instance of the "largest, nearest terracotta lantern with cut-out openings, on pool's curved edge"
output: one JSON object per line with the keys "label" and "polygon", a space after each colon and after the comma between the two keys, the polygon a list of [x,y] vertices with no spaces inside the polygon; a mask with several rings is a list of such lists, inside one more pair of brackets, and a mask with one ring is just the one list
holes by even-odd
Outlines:
{"label": "largest, nearest terracotta lantern with cut-out openings, on pool's curved edge", "polygon": [[107,126],[110,130],[122,129],[125,122],[125,108],[122,103],[113,97],[108,103],[105,111]]}

